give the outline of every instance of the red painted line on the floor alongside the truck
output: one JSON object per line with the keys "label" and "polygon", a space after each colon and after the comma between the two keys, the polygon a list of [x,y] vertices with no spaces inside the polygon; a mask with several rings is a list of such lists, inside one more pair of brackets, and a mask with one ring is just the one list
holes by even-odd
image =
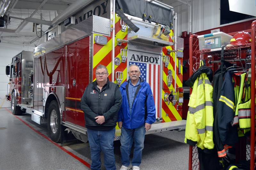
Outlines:
{"label": "red painted line on the floor alongside the truck", "polygon": [[[9,109],[6,109],[8,112],[10,112],[12,114],[12,112]],[[15,116],[15,115],[13,115]],[[85,166],[87,166],[88,168],[90,168],[90,164],[86,161],[84,161],[82,158],[79,158],[78,156],[76,156],[75,154],[71,153],[70,151],[66,150],[65,148],[63,148],[62,146],[60,146],[59,144],[53,142],[49,137],[45,136],[44,134],[42,134],[41,132],[39,132],[38,130],[36,130],[35,128],[33,128],[32,126],[30,126],[28,123],[26,123],[24,120],[20,119],[18,116],[15,116],[17,119],[19,119],[20,121],[22,121],[25,125],[27,125],[30,129],[34,130],[36,133],[38,133],[39,135],[43,136],[45,139],[47,139],[48,141],[50,141],[51,143],[53,143],[54,145],[56,145],[57,147],[59,147],[62,151],[68,153],[70,156],[72,156],[73,158],[77,159],[79,162],[81,162],[82,164],[84,164]]]}

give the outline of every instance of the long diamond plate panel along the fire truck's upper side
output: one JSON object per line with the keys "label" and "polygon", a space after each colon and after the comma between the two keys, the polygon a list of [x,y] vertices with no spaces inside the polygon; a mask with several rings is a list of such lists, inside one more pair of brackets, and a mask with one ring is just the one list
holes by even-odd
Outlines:
{"label": "long diamond plate panel along the fire truck's upper side", "polygon": [[93,32],[110,36],[110,19],[93,15],[34,48],[34,57],[58,49],[65,44],[79,40]]}

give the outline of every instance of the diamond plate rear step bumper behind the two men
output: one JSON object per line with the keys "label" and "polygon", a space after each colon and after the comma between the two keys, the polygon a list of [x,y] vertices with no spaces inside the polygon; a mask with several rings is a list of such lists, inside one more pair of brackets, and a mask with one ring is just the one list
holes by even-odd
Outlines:
{"label": "diamond plate rear step bumper behind the two men", "polygon": [[[154,123],[151,126],[151,129],[146,132],[147,134],[153,134],[158,132],[163,132],[167,130],[175,130],[175,129],[185,129],[186,128],[186,120],[176,120],[171,122],[164,123]],[[115,141],[120,140],[121,129],[116,130]]]}

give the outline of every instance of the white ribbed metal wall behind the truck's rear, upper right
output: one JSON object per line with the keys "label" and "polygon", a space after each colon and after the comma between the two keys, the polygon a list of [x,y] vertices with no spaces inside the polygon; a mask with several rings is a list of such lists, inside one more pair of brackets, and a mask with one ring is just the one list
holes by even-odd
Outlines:
{"label": "white ribbed metal wall behind the truck's rear, upper right", "polygon": [[[174,7],[174,12],[177,12],[177,36],[180,36],[183,31],[187,31],[189,33],[189,7],[179,1],[174,1],[172,3],[170,0],[163,0],[161,2]],[[192,33],[224,26],[220,25],[220,0],[193,0],[189,3],[191,2]]]}

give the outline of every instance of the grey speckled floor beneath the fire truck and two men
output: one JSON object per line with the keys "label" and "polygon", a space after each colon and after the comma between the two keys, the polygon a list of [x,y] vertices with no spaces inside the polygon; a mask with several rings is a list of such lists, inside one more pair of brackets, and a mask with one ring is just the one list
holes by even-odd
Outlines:
{"label": "grey speckled floor beneath the fire truck and two men", "polygon": [[[10,108],[0,108],[0,169],[89,169],[91,164],[88,143],[68,146],[50,142],[47,127],[36,124],[31,115],[14,116]],[[23,122],[22,122],[23,120]],[[30,127],[29,127],[30,126]],[[142,170],[188,169],[188,145],[185,132],[165,131],[145,137]],[[120,142],[114,143],[116,168],[122,166]],[[101,158],[103,164],[103,157]],[[102,165],[101,169],[105,169]]]}

